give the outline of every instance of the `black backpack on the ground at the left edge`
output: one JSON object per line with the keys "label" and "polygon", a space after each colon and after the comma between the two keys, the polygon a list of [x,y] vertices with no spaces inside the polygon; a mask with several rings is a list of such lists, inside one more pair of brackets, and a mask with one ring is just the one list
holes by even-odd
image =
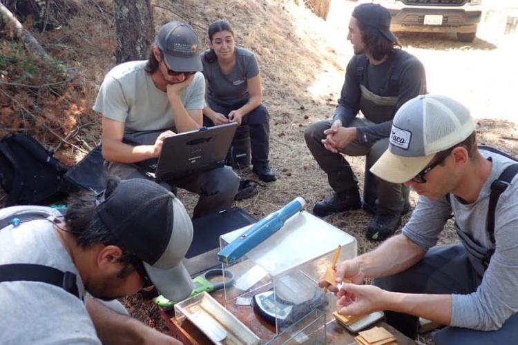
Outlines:
{"label": "black backpack on the ground at the left edge", "polygon": [[64,196],[59,184],[67,168],[53,153],[23,133],[0,140],[0,186],[8,194],[6,206],[48,204]]}

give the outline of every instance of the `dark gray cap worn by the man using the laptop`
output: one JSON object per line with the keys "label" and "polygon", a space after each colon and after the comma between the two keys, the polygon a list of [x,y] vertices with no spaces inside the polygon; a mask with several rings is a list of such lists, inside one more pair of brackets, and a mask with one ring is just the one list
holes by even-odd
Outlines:
{"label": "dark gray cap worn by the man using the laptop", "polygon": [[203,70],[200,59],[200,43],[192,26],[180,21],[166,23],[158,32],[156,44],[169,67],[176,72]]}

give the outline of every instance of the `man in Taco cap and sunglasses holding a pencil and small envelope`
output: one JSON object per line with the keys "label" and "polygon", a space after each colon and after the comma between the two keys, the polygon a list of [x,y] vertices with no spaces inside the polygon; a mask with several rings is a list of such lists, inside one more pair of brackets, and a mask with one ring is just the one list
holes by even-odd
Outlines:
{"label": "man in Taco cap and sunglasses holding a pencil and small envelope", "polygon": [[[384,310],[409,337],[418,317],[447,327],[436,344],[514,344],[518,336],[518,174],[510,155],[477,146],[468,108],[443,95],[396,113],[388,150],[371,171],[404,182],[419,201],[402,233],[338,264],[338,312]],[[460,244],[436,246],[454,217]],[[374,286],[361,285],[374,278]],[[323,282],[320,283],[325,286]]]}

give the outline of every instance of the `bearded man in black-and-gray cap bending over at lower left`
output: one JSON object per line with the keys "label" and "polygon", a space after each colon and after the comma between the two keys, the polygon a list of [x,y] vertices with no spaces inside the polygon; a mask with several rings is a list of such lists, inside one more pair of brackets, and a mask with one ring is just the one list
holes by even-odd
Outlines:
{"label": "bearded man in black-and-gray cap bending over at lower left", "polygon": [[0,210],[0,314],[10,315],[1,343],[180,344],[116,300],[151,284],[175,302],[191,293],[181,260],[193,225],[175,195],[109,178],[100,194],[72,195],[61,217],[43,206]]}

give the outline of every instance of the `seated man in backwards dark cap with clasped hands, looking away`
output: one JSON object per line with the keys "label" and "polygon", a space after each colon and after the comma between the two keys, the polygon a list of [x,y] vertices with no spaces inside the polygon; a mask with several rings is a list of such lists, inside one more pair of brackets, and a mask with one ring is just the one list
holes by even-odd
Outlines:
{"label": "seated man in backwards dark cap with clasped hands, looking away", "polygon": [[[375,3],[356,6],[349,21],[354,57],[347,64],[338,106],[332,120],[318,121],[305,131],[306,145],[329,180],[334,195],[316,203],[313,213],[332,213],[363,207],[374,214],[368,239],[390,237],[408,213],[408,188],[376,178],[369,171],[388,146],[392,119],[406,101],[426,92],[419,59],[399,48],[390,32],[390,12]],[[363,117],[358,117],[361,111]],[[346,156],[365,156],[361,201]]]}

